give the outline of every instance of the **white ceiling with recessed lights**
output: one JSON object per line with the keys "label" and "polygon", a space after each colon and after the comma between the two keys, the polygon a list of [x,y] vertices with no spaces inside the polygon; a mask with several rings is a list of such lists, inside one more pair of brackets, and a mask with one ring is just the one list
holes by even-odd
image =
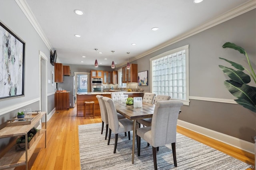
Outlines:
{"label": "white ceiling with recessed lights", "polygon": [[[26,0],[58,61],[94,65],[97,58],[99,66],[110,66],[114,60],[117,67],[128,57],[131,61],[160,49],[248,1]],[[84,14],[75,14],[76,9]],[[153,27],[159,30],[152,31]]]}

